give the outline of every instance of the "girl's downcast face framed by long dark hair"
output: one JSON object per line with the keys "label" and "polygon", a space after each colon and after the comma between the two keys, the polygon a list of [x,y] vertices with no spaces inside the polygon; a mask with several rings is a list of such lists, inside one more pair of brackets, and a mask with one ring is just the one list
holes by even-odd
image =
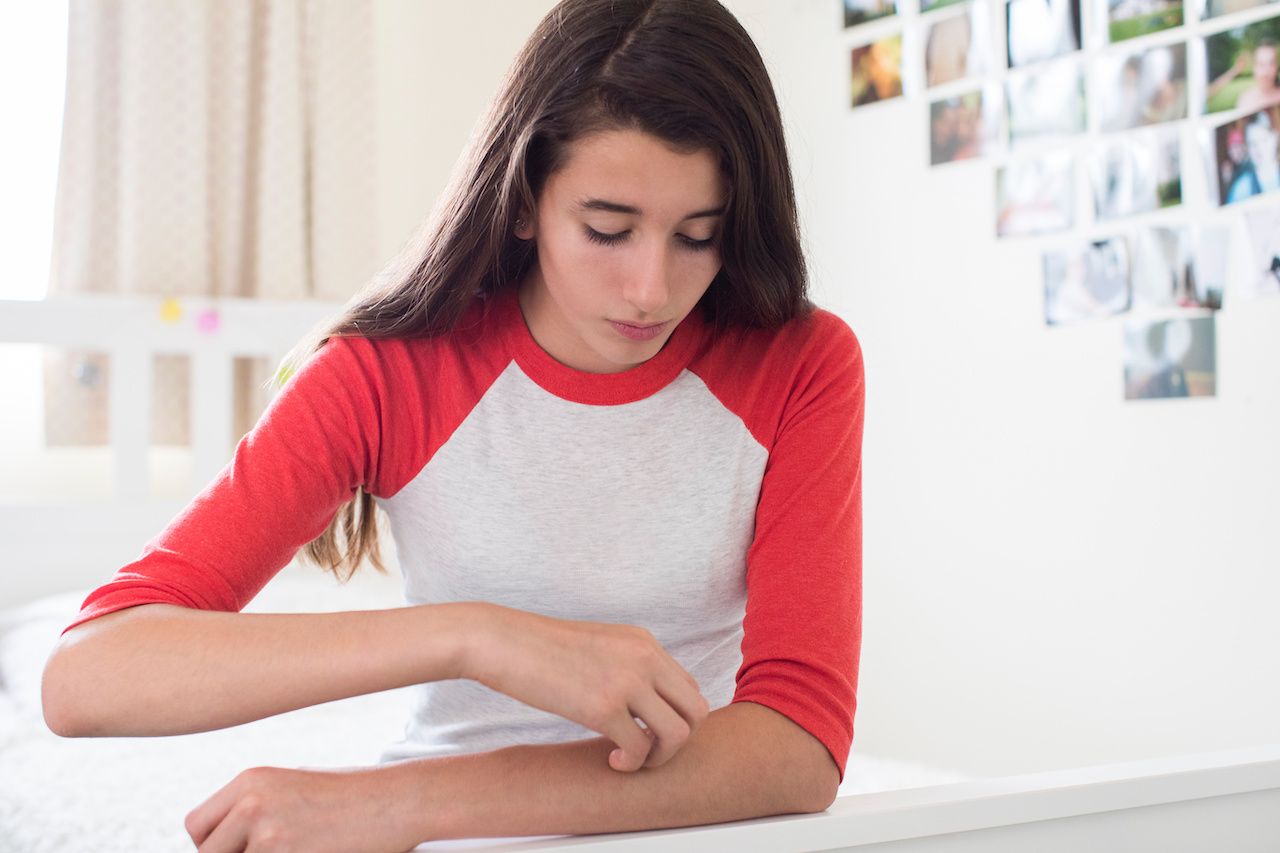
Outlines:
{"label": "girl's downcast face framed by long dark hair", "polygon": [[[652,359],[721,268],[709,241],[727,182],[710,151],[677,154],[640,131],[572,143],[516,236],[538,245],[520,306],[538,345],[586,373]],[[613,323],[660,323],[636,341]]]}

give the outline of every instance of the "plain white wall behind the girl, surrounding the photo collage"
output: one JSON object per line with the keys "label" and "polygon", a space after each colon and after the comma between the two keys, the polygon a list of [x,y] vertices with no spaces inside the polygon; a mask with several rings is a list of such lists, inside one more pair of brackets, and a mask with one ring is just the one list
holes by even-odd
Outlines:
{"label": "plain white wall behind the girl, surrounding the photo collage", "polygon": [[[388,252],[550,5],[383,8]],[[1123,402],[1123,320],[1043,325],[992,163],[931,169],[922,97],[845,106],[840,4],[728,5],[782,102],[815,297],[867,357],[856,748],[1005,774],[1280,742],[1280,300],[1219,314],[1216,400]]]}

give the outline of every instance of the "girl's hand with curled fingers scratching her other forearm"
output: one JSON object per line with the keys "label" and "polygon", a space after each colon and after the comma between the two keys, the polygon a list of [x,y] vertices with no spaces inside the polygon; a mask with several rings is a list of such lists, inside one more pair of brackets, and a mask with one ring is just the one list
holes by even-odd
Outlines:
{"label": "girl's hand with curled fingers scratching her other forearm", "polygon": [[710,713],[694,676],[644,628],[500,605],[481,612],[463,678],[600,733],[618,745],[614,770],[664,765]]}

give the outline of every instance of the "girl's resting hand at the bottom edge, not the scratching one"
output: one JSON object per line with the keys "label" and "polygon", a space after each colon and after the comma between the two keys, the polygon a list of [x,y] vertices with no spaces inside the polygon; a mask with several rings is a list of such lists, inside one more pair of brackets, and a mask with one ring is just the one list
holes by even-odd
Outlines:
{"label": "girl's resting hand at the bottom edge, not the scratching one", "polygon": [[198,853],[410,850],[424,839],[394,813],[390,771],[253,767],[192,809],[187,834]]}

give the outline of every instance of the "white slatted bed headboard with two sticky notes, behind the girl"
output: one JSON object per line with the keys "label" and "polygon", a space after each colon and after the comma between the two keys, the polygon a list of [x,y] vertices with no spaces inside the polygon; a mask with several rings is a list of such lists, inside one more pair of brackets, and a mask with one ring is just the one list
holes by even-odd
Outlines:
{"label": "white slatted bed headboard with two sticky notes, behind the girl", "polygon": [[[183,297],[175,323],[161,319],[161,300],[67,296],[0,301],[0,345],[46,345],[105,352],[109,383],[108,434],[113,457],[109,502],[72,501],[0,507],[0,540],[10,565],[20,566],[0,589],[0,607],[38,596],[93,587],[136,558],[227,465],[232,435],[233,368],[237,357],[270,360],[285,352],[340,304],[269,302]],[[198,313],[216,309],[216,332],[196,328]],[[182,353],[191,364],[192,478],[186,500],[148,494],[151,375],[157,355]]]}

